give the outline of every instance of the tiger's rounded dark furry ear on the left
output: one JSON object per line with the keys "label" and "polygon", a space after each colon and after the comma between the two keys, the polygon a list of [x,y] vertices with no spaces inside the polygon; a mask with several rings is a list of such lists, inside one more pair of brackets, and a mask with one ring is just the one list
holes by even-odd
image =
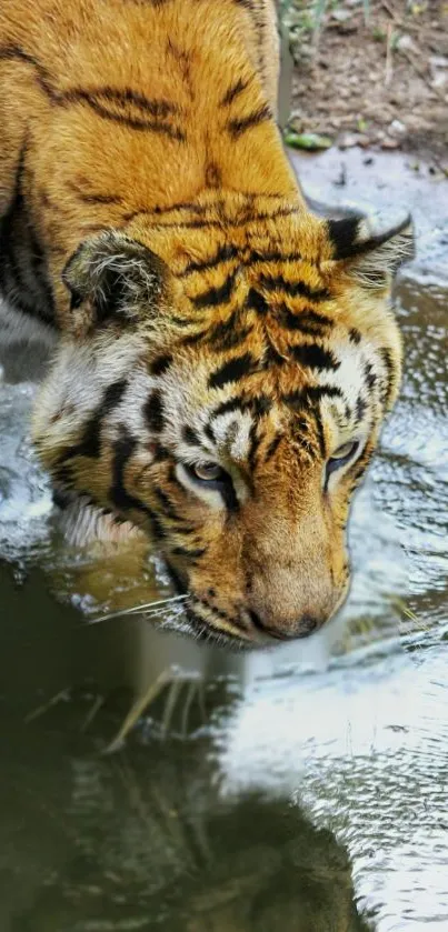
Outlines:
{"label": "tiger's rounded dark furry ear on the left", "polygon": [[62,272],[70,310],[88,327],[111,320],[137,322],[151,317],[168,289],[168,265],[150,249],[123,233],[108,230],[84,240]]}

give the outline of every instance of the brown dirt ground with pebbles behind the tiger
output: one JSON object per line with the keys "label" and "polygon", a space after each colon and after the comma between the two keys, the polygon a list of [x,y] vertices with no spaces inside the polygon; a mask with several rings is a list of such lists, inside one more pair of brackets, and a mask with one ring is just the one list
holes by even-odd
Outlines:
{"label": "brown dirt ground with pebbles behind the tiger", "polygon": [[290,127],[401,149],[448,177],[447,0],[293,0]]}

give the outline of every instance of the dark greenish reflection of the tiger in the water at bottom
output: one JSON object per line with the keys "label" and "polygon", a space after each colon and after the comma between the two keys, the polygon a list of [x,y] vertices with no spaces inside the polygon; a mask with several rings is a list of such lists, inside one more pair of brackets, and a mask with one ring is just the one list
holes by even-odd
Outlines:
{"label": "dark greenish reflection of the tiger in the water at bottom", "polygon": [[[54,710],[50,728],[49,719],[36,723],[21,754],[39,740],[51,761],[56,744],[73,740],[68,713]],[[286,798],[222,799],[208,738],[161,746],[69,755],[63,773],[44,768],[40,799],[21,786],[26,818],[13,850],[3,850],[13,869],[19,862],[18,886],[37,821],[44,840],[11,932],[367,932],[348,858],[329,831]],[[22,784],[29,778],[17,768]]]}

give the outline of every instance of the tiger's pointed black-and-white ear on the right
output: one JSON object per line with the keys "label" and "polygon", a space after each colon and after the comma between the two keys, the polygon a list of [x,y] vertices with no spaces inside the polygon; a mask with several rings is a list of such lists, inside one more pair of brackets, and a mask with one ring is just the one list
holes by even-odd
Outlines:
{"label": "tiger's pointed black-and-white ear on the right", "polygon": [[405,262],[415,255],[410,214],[394,226],[372,224],[367,217],[352,214],[327,220],[332,258],[345,263],[351,275],[368,289],[385,289]]}

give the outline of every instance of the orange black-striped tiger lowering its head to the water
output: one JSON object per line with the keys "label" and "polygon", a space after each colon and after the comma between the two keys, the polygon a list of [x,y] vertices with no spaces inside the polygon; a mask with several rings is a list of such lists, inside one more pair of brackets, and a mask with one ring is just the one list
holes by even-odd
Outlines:
{"label": "orange black-striped tiger lowering its head to the water", "polygon": [[278,77],[272,0],[1,3],[3,334],[52,347],[36,450],[152,542],[183,630],[235,648],[347,598],[412,249],[409,216],[309,209]]}

